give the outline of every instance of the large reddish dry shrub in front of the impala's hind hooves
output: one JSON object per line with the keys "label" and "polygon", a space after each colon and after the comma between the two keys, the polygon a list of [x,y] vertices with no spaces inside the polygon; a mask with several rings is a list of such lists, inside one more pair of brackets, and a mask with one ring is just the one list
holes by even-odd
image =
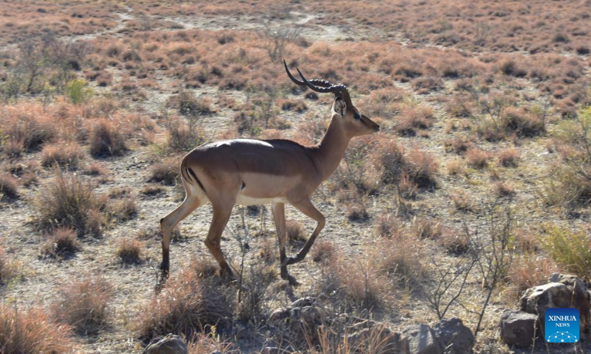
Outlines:
{"label": "large reddish dry shrub in front of the impala's hind hooves", "polygon": [[170,278],[157,296],[144,303],[136,330],[147,342],[168,333],[190,338],[207,325],[222,330],[231,316],[223,289],[189,269]]}

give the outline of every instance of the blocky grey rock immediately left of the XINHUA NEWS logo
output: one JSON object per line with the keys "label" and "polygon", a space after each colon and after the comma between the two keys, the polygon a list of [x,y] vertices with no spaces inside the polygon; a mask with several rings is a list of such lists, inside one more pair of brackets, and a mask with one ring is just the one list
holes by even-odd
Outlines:
{"label": "blocky grey rock immediately left of the XINHUA NEWS logo", "polygon": [[[501,339],[508,345],[526,348],[534,343],[538,324],[537,314],[505,310],[501,316]],[[538,332],[538,335],[541,332]]]}

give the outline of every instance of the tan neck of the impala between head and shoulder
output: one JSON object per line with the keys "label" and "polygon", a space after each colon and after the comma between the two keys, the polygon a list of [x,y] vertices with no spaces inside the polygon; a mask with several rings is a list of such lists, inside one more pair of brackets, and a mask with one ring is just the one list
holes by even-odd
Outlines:
{"label": "tan neck of the impala between head and shoulder", "polygon": [[351,137],[345,133],[339,122],[335,118],[331,119],[329,129],[326,130],[326,134],[318,145],[322,181],[329,178],[339,167],[340,160],[343,159],[345,150],[349,146],[349,140]]}

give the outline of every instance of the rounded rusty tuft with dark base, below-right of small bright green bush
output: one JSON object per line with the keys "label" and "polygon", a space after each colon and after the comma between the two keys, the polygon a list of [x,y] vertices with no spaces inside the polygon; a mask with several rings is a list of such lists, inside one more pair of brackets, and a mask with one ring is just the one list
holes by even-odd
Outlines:
{"label": "rounded rusty tuft with dark base, below-right of small bright green bush", "polygon": [[126,137],[121,124],[101,119],[90,130],[90,155],[98,157],[119,156],[127,150]]}

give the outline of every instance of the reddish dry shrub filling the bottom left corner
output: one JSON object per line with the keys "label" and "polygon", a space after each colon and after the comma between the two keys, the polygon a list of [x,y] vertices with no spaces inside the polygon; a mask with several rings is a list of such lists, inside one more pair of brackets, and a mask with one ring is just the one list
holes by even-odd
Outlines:
{"label": "reddish dry shrub filling the bottom left corner", "polygon": [[72,329],[58,323],[42,307],[19,310],[0,303],[0,343],[3,354],[72,351]]}

